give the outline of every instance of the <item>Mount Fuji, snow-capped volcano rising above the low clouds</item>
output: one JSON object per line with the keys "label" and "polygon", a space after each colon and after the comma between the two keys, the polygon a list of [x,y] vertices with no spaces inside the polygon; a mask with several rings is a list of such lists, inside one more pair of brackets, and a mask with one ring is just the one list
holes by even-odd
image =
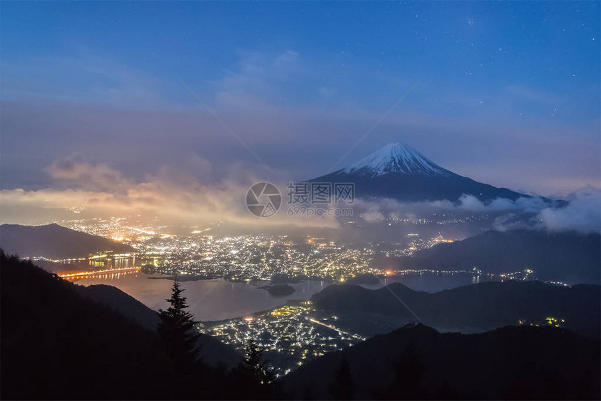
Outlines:
{"label": "Mount Fuji, snow-capped volcano rising above the low clouds", "polygon": [[[391,143],[347,168],[309,182],[352,182],[356,198],[391,198],[404,202],[456,202],[463,195],[489,203],[496,198],[532,198],[507,188],[455,174],[404,143]],[[553,203],[549,199],[544,201]]]}

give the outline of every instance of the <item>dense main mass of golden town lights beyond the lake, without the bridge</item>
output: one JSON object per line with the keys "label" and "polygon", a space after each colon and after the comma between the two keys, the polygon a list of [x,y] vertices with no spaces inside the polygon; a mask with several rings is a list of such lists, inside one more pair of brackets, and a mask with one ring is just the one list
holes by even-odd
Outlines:
{"label": "dense main mass of golden town lights beyond the lake, without the bridge", "polygon": [[[69,228],[125,242],[135,251],[113,258],[136,257],[136,264],[156,266],[156,272],[196,277],[224,277],[231,280],[268,280],[319,278],[335,282],[360,275],[380,275],[372,267],[377,244],[361,247],[342,245],[326,238],[305,237],[293,240],[287,235],[208,235],[192,230],[189,235],[173,235],[167,227],[134,226],[125,219],[90,219],[64,222]],[[437,235],[431,240],[409,238],[407,247],[393,254],[410,253],[444,241]],[[399,245],[402,246],[402,245]],[[91,256],[90,262],[103,255]],[[102,268],[100,263],[95,268]],[[129,267],[129,266],[120,266]]]}

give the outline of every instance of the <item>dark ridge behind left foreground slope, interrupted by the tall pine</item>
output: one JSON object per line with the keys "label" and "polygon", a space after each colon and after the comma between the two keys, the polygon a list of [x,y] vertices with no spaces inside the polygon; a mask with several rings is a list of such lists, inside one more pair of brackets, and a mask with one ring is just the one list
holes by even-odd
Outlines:
{"label": "dark ridge behind left foreground slope, interrupted by the tall pine", "polygon": [[[75,289],[83,298],[106,305],[147,330],[154,331],[157,329],[157,324],[159,323],[158,312],[150,309],[142,302],[136,300],[136,298],[129,296],[114,286],[106,284],[92,286],[76,285]],[[242,363],[242,355],[236,349],[210,335],[201,334],[198,338],[198,346],[200,347],[198,355],[203,358],[203,362],[210,365],[219,365],[231,369]]]}

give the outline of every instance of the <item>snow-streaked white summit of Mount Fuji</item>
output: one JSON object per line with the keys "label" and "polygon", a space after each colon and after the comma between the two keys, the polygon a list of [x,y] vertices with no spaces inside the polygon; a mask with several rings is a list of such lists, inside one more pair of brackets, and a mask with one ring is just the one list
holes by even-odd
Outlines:
{"label": "snow-streaked white summit of Mount Fuji", "polygon": [[412,175],[453,175],[449,170],[423,156],[404,143],[389,143],[369,156],[344,169],[345,173],[376,176],[386,173]]}

